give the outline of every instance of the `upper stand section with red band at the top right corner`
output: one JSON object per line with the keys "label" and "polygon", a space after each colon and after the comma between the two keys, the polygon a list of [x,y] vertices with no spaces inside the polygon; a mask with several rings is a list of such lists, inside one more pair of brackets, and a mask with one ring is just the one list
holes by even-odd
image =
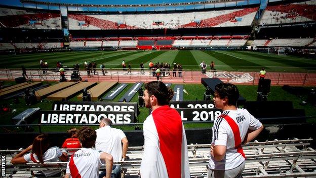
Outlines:
{"label": "upper stand section with red band at the top right corner", "polygon": [[300,23],[316,20],[316,1],[268,5],[259,25]]}

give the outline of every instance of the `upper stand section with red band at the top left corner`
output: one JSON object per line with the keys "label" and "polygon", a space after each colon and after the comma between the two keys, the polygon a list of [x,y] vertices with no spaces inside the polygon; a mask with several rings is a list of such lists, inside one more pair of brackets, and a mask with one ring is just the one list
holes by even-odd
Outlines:
{"label": "upper stand section with red band at the top left corner", "polygon": [[5,28],[61,29],[60,11],[0,7],[0,26]]}

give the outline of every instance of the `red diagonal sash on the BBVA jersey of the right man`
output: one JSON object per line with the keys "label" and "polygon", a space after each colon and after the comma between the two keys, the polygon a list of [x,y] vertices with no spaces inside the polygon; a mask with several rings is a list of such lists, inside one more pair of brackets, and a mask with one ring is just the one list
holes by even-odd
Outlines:
{"label": "red diagonal sash on the BBVA jersey of the right man", "polygon": [[240,153],[244,158],[246,158],[246,155],[244,153],[243,146],[242,146],[242,138],[240,137],[240,131],[239,131],[238,125],[228,115],[223,116],[223,118],[227,121],[228,125],[230,126],[234,134],[235,149],[237,149],[237,152]]}

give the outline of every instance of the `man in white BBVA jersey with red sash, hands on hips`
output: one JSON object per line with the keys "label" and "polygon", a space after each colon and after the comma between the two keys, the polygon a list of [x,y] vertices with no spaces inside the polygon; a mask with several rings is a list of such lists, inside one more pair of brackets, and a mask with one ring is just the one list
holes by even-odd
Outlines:
{"label": "man in white BBVA jersey with red sash, hands on hips", "polygon": [[254,139],[263,125],[247,110],[236,107],[238,88],[230,83],[215,86],[214,104],[223,110],[212,127],[208,177],[241,177],[245,169],[243,144]]}

